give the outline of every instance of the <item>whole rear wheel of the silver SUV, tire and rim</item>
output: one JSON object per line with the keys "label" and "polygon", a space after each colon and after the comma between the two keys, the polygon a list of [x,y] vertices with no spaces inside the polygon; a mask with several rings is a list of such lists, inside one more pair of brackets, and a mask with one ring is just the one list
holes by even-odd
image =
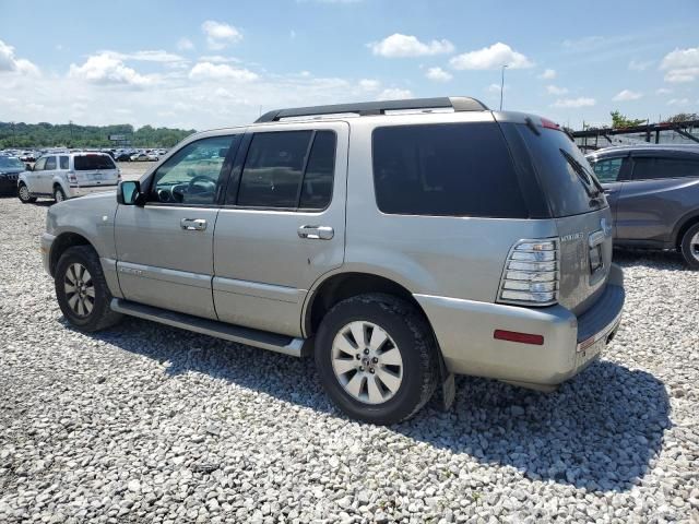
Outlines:
{"label": "whole rear wheel of the silver SUV, tire and rim", "polygon": [[[364,343],[357,344],[355,332]],[[429,324],[412,305],[370,294],[343,300],[325,314],[315,357],[325,392],[343,413],[390,425],[411,418],[434,394],[437,352]]]}

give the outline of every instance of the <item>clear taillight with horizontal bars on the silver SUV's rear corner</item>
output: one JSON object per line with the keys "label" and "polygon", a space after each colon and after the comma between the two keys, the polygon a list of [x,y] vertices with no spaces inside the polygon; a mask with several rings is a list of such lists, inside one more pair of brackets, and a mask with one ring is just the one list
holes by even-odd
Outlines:
{"label": "clear taillight with horizontal bars on the silver SUV's rear corner", "polygon": [[550,306],[558,301],[558,239],[520,240],[507,258],[498,301]]}

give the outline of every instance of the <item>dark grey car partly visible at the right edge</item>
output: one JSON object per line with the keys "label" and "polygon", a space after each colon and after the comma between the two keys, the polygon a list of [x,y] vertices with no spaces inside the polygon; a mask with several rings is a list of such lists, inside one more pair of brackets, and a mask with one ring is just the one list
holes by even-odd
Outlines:
{"label": "dark grey car partly visible at the right edge", "polygon": [[609,147],[588,155],[614,215],[614,243],[677,250],[699,270],[699,145]]}

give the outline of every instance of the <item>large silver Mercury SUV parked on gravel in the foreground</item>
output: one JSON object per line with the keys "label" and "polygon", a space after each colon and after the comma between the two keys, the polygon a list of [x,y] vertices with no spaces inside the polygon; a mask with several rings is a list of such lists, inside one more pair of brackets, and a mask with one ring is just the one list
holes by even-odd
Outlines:
{"label": "large silver Mercury SUV parked on gravel in the foreground", "polygon": [[[453,374],[550,391],[612,340],[612,216],[556,124],[466,97],[284,109],[52,206],[66,318],[122,314],[315,355],[346,414],[411,417]],[[233,349],[233,348],[232,348]]]}

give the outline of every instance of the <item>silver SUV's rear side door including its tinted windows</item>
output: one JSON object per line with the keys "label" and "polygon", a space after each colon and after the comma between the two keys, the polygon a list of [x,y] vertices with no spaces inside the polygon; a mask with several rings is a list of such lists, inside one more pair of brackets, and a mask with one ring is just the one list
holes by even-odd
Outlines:
{"label": "silver SUV's rear side door including its tinted windows", "polygon": [[221,320],[300,336],[308,289],[344,261],[348,140],[345,122],[246,136],[214,238]]}

